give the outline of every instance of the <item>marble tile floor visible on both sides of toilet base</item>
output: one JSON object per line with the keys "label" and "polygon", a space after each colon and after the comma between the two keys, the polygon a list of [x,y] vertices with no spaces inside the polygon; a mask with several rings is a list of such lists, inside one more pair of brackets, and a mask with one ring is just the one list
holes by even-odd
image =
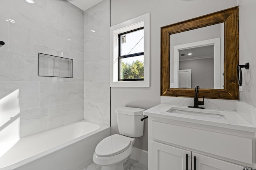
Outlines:
{"label": "marble tile floor visible on both sides of toilet base", "polygon": [[[142,164],[136,160],[130,159],[130,164],[132,165],[130,170],[148,170],[148,165]],[[100,166],[92,162],[82,170],[100,170]]]}

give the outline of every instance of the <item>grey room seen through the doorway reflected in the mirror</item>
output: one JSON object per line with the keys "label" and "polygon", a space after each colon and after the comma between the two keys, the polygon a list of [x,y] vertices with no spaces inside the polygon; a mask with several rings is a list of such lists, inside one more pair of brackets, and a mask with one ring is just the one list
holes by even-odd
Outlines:
{"label": "grey room seen through the doorway reflected in the mirror", "polygon": [[179,51],[179,88],[214,88],[213,50],[214,45],[208,45]]}

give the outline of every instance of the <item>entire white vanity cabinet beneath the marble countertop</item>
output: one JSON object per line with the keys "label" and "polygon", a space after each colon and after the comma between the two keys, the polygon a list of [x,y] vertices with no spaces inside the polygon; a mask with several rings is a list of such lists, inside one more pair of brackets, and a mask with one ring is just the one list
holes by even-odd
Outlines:
{"label": "entire white vanity cabinet beneath the marble countertop", "polygon": [[149,170],[255,168],[255,133],[150,116],[148,132]]}

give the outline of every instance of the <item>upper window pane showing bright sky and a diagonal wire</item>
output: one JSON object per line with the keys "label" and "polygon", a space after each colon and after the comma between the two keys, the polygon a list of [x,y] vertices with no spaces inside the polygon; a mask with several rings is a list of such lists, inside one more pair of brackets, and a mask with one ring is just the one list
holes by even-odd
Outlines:
{"label": "upper window pane showing bright sky and a diagonal wire", "polygon": [[121,56],[144,52],[144,29],[120,36]]}

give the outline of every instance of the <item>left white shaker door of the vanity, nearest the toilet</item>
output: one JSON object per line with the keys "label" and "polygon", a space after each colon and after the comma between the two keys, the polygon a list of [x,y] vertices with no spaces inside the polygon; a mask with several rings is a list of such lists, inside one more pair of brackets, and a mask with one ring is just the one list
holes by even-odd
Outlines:
{"label": "left white shaker door of the vanity, nearest the toilet", "polygon": [[191,152],[152,141],[150,170],[191,170]]}

